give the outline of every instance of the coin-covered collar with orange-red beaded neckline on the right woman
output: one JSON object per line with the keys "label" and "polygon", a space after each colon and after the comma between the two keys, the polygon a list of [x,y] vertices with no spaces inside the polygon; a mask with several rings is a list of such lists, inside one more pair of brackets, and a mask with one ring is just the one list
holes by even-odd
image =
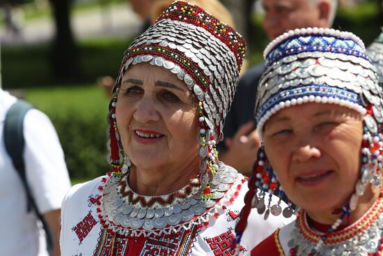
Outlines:
{"label": "coin-covered collar with orange-red beaded neckline on the right woman", "polygon": [[[325,234],[311,229],[308,225],[306,211],[301,210],[296,227],[291,232],[288,242],[290,256],[315,255],[315,246],[326,236],[319,255],[380,255],[383,232],[383,199],[380,197],[357,222],[345,229]],[[350,254],[351,253],[351,254]]]}

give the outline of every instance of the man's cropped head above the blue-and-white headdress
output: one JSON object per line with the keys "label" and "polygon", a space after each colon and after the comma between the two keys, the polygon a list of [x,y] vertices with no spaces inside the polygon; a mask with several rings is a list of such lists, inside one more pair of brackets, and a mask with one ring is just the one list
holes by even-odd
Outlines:
{"label": "man's cropped head above the blue-and-white headdress", "polygon": [[262,0],[263,27],[270,40],[290,29],[331,27],[337,0]]}

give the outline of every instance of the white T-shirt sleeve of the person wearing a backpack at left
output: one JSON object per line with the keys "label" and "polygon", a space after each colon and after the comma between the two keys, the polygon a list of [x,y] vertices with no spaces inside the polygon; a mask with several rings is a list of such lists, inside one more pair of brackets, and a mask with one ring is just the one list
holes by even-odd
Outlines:
{"label": "white T-shirt sleeve of the person wearing a backpack at left", "polygon": [[60,209],[70,180],[63,149],[47,115],[34,109],[26,113],[24,140],[26,180],[38,210]]}

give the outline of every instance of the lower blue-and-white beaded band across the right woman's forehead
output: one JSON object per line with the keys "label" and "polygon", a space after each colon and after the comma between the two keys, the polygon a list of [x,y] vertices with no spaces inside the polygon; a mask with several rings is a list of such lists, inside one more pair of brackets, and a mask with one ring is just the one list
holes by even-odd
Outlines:
{"label": "lower blue-and-white beaded band across the right woman's forehead", "polygon": [[304,103],[336,104],[348,107],[362,115],[366,114],[367,111],[357,93],[326,84],[309,84],[278,91],[260,106],[256,114],[257,129],[261,139],[263,137],[263,125],[273,114],[285,107]]}

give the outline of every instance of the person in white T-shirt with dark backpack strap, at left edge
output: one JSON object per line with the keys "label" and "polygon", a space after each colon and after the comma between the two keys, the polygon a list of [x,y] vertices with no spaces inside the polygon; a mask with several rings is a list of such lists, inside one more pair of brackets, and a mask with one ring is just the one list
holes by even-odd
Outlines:
{"label": "person in white T-shirt with dark backpack strap, at left edge", "polygon": [[0,255],[58,256],[70,180],[56,130],[44,113],[0,88],[0,136]]}

